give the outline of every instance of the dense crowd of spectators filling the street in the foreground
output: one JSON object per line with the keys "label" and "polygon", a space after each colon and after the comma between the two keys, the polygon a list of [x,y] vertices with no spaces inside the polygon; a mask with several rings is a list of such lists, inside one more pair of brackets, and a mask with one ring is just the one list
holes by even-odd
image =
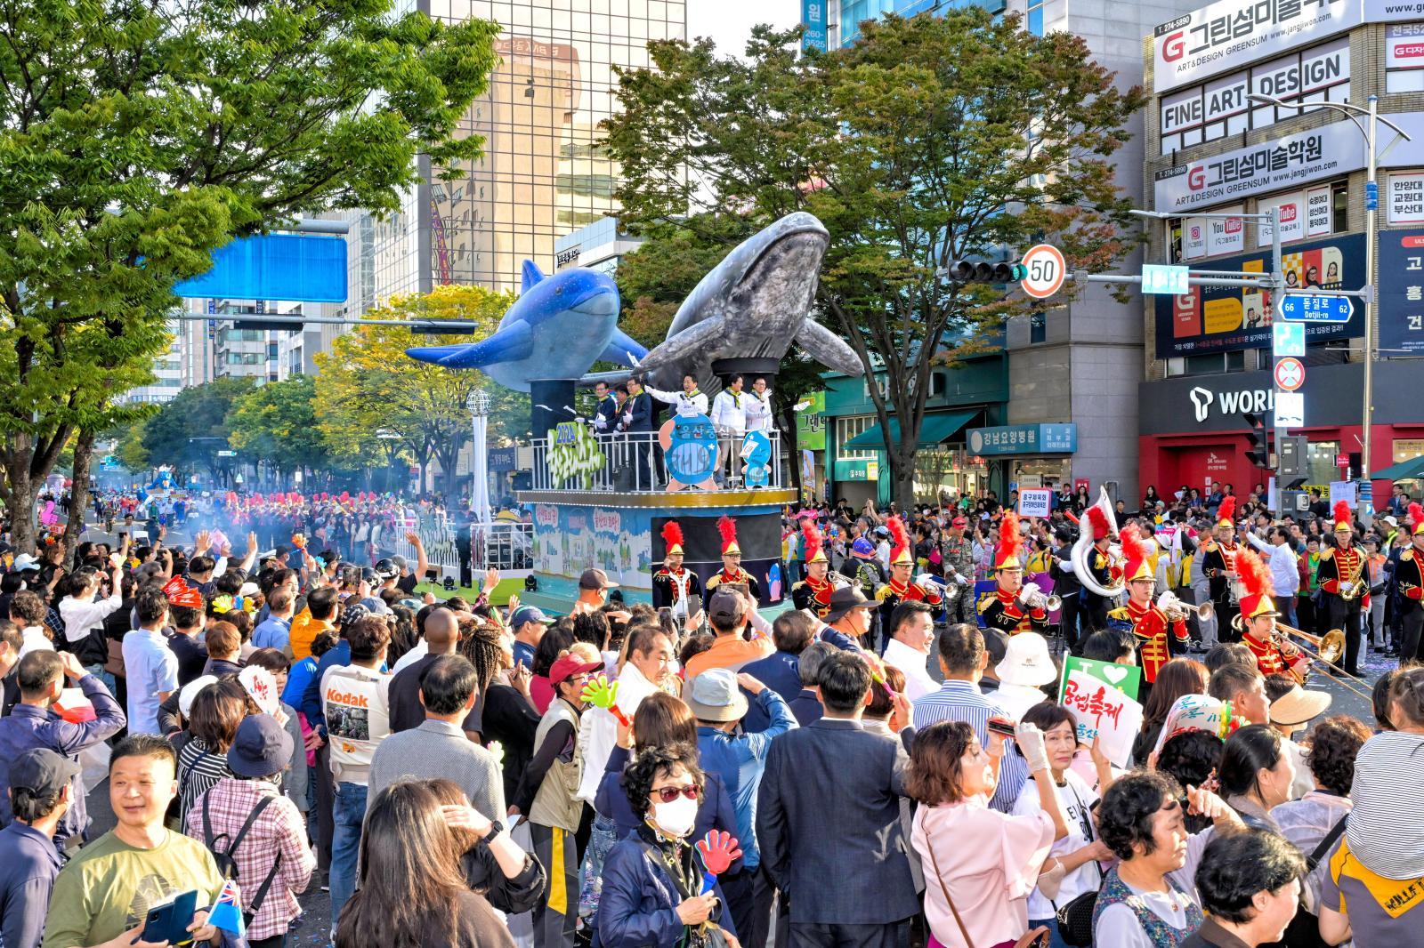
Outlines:
{"label": "dense crowd of spectators filling the street in the foreground", "polygon": [[[167,944],[145,929],[172,902],[195,942],[272,948],[313,900],[342,948],[1417,939],[1413,653],[1370,685],[1376,720],[1330,716],[1274,633],[1299,606],[1274,585],[1290,527],[1255,501],[1022,524],[1011,501],[789,511],[795,608],[772,621],[739,549],[692,592],[671,542],[655,588],[682,608],[587,569],[558,618],[493,571],[437,596],[423,562],[263,552],[256,531],[16,555],[3,944]],[[1340,562],[1356,531],[1403,532],[1404,564],[1424,541],[1424,515],[1326,512],[1329,596],[1368,568]],[[1213,569],[1236,586],[1216,635],[1155,598],[1200,574],[1218,601]],[[1071,653],[1142,666],[1131,759],[1079,740],[1027,574],[1054,576],[1061,621],[1078,602]],[[1121,604],[1087,602],[1099,585]],[[1407,645],[1418,602],[1396,609]]]}

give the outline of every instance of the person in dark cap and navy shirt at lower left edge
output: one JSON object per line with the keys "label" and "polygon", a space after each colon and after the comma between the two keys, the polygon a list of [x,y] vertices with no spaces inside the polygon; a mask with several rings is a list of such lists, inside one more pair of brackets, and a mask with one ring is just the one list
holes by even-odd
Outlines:
{"label": "person in dark cap and navy shirt at lower left edge", "polygon": [[10,763],[14,820],[0,830],[0,931],[14,948],[38,948],[50,890],[60,874],[53,840],[74,803],[78,763],[48,747],[27,750]]}

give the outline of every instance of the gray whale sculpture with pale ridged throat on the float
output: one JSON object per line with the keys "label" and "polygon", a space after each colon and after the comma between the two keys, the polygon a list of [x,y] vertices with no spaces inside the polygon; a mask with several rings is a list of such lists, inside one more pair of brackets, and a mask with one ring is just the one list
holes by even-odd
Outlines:
{"label": "gray whale sculpture with pale ridged throat on the float", "polygon": [[715,360],[779,360],[795,340],[827,369],[864,374],[856,352],[810,316],[829,242],[824,225],[803,211],[742,241],[698,282],[666,339],[638,369],[659,389],[678,391],[689,374],[705,391],[715,391],[721,387],[712,376]]}

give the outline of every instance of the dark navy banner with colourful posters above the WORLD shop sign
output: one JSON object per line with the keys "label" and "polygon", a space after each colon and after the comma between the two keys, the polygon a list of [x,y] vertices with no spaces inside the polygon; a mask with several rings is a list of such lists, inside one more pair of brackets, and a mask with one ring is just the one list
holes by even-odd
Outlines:
{"label": "dark navy banner with colourful posters above the WORLD shop sign", "polygon": [[[1364,286],[1364,236],[1353,233],[1296,243],[1282,256],[1282,263],[1290,288],[1360,289]],[[1269,251],[1212,263],[1212,269],[1256,273],[1265,273],[1269,266]],[[1266,349],[1272,343],[1273,322],[1269,305],[1269,293],[1250,286],[1192,286],[1180,296],[1159,296],[1156,356],[1175,359],[1208,352]],[[1306,329],[1307,342],[1361,335],[1363,307],[1356,307],[1346,323],[1312,323]]]}

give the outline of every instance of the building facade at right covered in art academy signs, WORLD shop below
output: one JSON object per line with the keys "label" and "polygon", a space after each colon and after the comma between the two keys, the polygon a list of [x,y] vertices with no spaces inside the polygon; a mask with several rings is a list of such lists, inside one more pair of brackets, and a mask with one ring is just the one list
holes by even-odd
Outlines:
{"label": "building facade at right covered in art academy signs, WORLD shop below", "polygon": [[[1309,437],[1306,484],[1323,488],[1424,453],[1424,409],[1405,396],[1424,369],[1424,11],[1404,6],[1223,0],[1143,40],[1152,93],[1143,184],[1149,206],[1168,215],[1148,259],[1269,270],[1269,225],[1233,215],[1277,208],[1287,286],[1378,288],[1371,458],[1360,455],[1363,307],[1343,323],[1306,326],[1304,426],[1292,433]],[[1222,38],[1223,23],[1236,24],[1235,41]],[[1378,128],[1376,273],[1364,259],[1363,125],[1321,107],[1363,107],[1370,95],[1413,138]],[[1145,297],[1143,484],[1168,494],[1215,480],[1245,494],[1267,483],[1270,471],[1245,457],[1242,416],[1273,409],[1273,303],[1242,288]],[[1387,483],[1374,490],[1388,495]]]}

